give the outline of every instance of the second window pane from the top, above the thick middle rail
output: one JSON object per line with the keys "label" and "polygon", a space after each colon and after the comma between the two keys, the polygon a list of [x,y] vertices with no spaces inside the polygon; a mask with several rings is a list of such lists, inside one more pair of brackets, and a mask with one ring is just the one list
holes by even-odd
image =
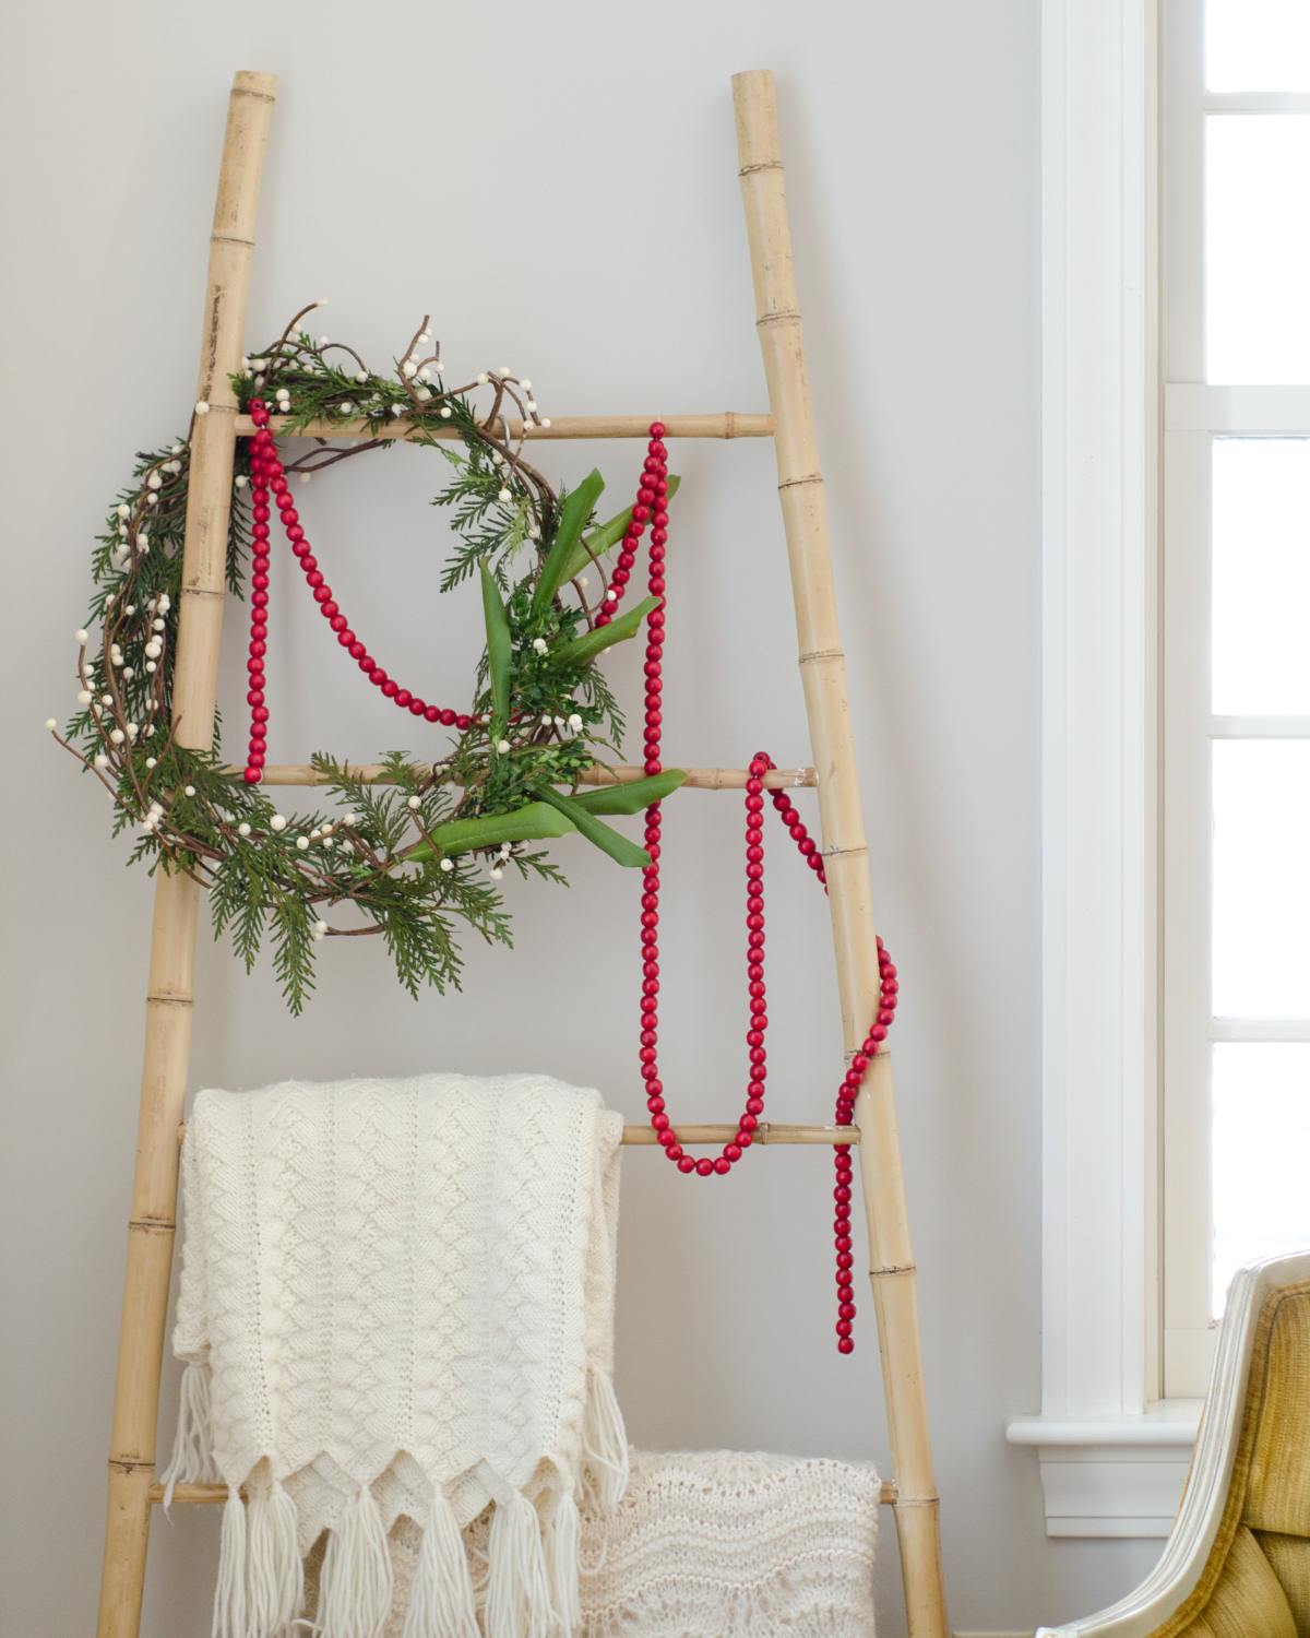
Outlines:
{"label": "second window pane from the top, above the thick middle rail", "polygon": [[1310,116],[1205,121],[1212,382],[1310,382]]}

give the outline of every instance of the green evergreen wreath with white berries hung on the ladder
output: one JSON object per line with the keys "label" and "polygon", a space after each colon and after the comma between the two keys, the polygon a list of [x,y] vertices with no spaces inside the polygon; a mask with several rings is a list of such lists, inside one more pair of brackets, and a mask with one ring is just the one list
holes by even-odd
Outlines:
{"label": "green evergreen wreath with white berries hung on the ladder", "polygon": [[[449,983],[458,986],[457,921],[486,942],[511,943],[495,886],[509,865],[563,883],[547,853],[526,844],[578,830],[617,863],[645,867],[645,848],[604,816],[640,812],[684,778],[668,770],[635,783],[578,788],[590,767],[619,753],[624,731],[594,662],[635,636],[660,603],[647,598],[622,616],[608,611],[616,593],[606,588],[603,560],[626,534],[632,508],[598,524],[599,472],[555,495],[524,460],[526,434],[511,442],[499,418],[511,401],[526,428],[550,424],[531,382],[506,369],[447,388],[440,349],[421,355],[431,342],[426,318],[395,360],[395,377],[377,375],[352,347],[326,336],[314,341],[301,328],[323,305],[303,308],[272,347],[242,359],[242,373],[233,377],[237,405],[249,413],[267,401],[288,418],[283,437],[305,434],[314,421],[367,424],[359,444],[329,452],[319,439],[283,468],[306,482],[323,467],[390,447],[393,441],[378,434],[398,416],[409,418],[409,442],[440,450],[455,468],[434,501],[450,509],[458,537],[440,590],[478,577],[486,647],[452,749],[427,767],[414,767],[408,752],[390,752],[382,786],[354,778],[331,755],[314,755],[328,799],[341,811],[283,816],[260,790],[257,768],[242,778],[224,763],[218,721],[211,750],[177,744],[172,686],[190,434],[138,455],[133,482],[92,554],[87,627],[98,631],[93,639],[88,629],[75,634],[80,709],[62,734],[54,719],[46,722],[110,793],[115,835],[134,832],[129,863],[146,860],[151,873],[180,870],[208,888],[215,937],[231,929],[247,971],[265,935],[272,939],[293,1014],[314,984],[314,943],[332,935],[382,934],[413,996],[424,983],[440,993]],[[480,416],[472,398],[486,388],[493,403]],[[206,413],[208,405],[196,405],[195,414]],[[452,429],[462,449],[437,441],[437,432],[449,439]],[[252,441],[237,439],[226,562],[228,588],[237,596],[252,545],[251,450]],[[668,480],[670,495],[676,485]],[[603,588],[594,604],[586,598],[590,567]],[[570,586],[576,603],[565,601]],[[450,726],[450,716],[442,713],[440,721]],[[480,875],[480,858],[490,881]],[[331,927],[323,912],[346,903],[357,906],[360,924]]]}

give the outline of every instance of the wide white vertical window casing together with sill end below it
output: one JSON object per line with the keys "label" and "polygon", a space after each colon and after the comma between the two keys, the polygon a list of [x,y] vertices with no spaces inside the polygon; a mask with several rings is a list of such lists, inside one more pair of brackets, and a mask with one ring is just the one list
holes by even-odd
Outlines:
{"label": "wide white vertical window casing together with sill end below it", "polygon": [[1043,1340],[1048,1535],[1163,1536],[1154,0],[1043,0]]}

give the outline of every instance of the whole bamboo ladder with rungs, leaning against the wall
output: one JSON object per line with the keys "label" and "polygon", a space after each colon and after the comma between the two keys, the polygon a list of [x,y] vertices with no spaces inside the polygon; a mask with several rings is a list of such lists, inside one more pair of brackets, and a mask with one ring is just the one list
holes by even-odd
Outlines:
{"label": "whole bamboo ladder with rungs, leaning against the wall", "polygon": [[[878,950],[870,899],[855,747],[850,731],[845,660],[837,627],[824,480],[814,441],[801,314],[791,269],[783,162],[768,70],[737,74],[737,147],[755,280],[757,331],[765,359],[771,416],[663,416],[666,437],[768,437],[778,454],[791,581],[796,601],[801,678],[815,767],[781,770],[771,786],[817,785],[824,868],[837,952],[847,1058],[865,1038],[879,1004]],[[233,82],[228,131],[210,239],[210,275],[198,400],[210,414],[192,432],[192,478],[174,673],[174,714],[183,745],[213,742],[218,647],[223,626],[223,570],[233,455],[237,436],[254,428],[237,414],[229,375],[241,364],[259,183],[277,80],[241,72]],[[653,416],[555,421],[544,437],[645,437]],[[277,418],[273,429],[277,431]],[[334,424],[323,437],[365,431]],[[511,421],[508,431],[517,436]],[[404,437],[403,424],[388,429]],[[370,770],[372,771],[372,770]],[[619,770],[637,778],[640,770]],[[311,768],[269,768],[270,785],[311,785]],[[698,768],[686,781],[739,788],[743,770]],[[188,876],[156,878],[151,971],[146,996],[146,1063],[141,1083],[128,1273],[118,1345],[105,1568],[97,1638],[138,1638],[146,1579],[154,1482],[159,1376],[177,1219],[178,1133],[187,1093],[192,1034],[192,980],[200,888]],[[683,1142],[722,1143],[735,1127],[680,1127]],[[870,1276],[883,1356],[883,1391],[892,1450],[892,1482],[883,1500],[896,1510],[910,1638],[946,1638],[938,1502],[932,1474],[927,1400],[919,1342],[915,1271],[910,1253],[901,1147],[891,1084],[891,1055],[873,1060],[855,1104],[853,1127],[761,1127],[765,1143],[858,1143],[860,1179],[870,1233]],[[650,1143],[647,1127],[627,1127],[626,1143]],[[218,1502],[221,1486],[178,1486],[178,1502]]]}

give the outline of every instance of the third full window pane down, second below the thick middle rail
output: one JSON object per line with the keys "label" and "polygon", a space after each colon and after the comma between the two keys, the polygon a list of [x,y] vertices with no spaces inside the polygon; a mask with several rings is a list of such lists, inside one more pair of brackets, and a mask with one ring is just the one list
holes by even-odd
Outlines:
{"label": "third full window pane down, second below the thick middle rail", "polygon": [[1310,742],[1215,740],[1213,1007],[1310,1017]]}

